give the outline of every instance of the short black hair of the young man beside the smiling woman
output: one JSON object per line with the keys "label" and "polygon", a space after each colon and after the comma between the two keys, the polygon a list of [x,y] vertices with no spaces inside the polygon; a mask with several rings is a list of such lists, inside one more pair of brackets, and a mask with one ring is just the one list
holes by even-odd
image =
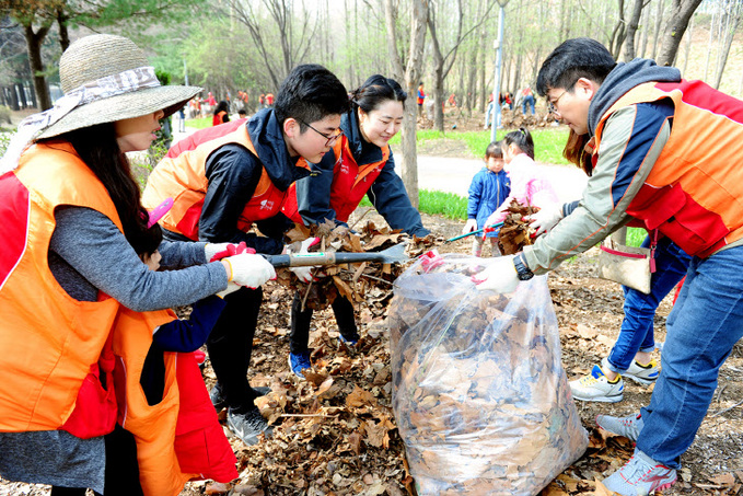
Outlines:
{"label": "short black hair of the young man beside the smiling woman", "polygon": [[317,64],[297,66],[279,88],[274,113],[279,123],[292,117],[300,124],[314,123],[328,115],[348,112],[348,92],[336,76]]}

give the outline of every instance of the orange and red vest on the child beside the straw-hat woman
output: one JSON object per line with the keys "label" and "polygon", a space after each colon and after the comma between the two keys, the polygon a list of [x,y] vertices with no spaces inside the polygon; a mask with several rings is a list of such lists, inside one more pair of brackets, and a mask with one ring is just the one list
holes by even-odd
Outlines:
{"label": "orange and red vest on the child beside the straw-hat woman", "polygon": [[234,454],[193,354],[163,353],[165,384],[158,404],[148,404],[140,385],[152,333],[175,319],[171,310],[135,312],[121,307],[114,327],[118,422],[135,437],[144,496],[176,496],[194,478],[230,482],[237,477]]}

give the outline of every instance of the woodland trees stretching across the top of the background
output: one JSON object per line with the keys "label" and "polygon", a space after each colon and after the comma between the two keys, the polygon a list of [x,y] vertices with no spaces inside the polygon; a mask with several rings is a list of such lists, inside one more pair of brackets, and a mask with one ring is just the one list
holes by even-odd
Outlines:
{"label": "woodland trees stretching across the top of the background", "polygon": [[418,83],[434,129],[451,94],[461,115],[485,112],[501,11],[501,92],[534,85],[554,47],[590,36],[617,60],[652,58],[743,95],[743,0],[0,0],[0,104],[48,108],[62,50],[94,32],[131,37],[165,80],[204,96],[246,92],[248,112],[298,64],[326,66],[349,90],[379,72],[408,92],[397,157],[417,205]]}

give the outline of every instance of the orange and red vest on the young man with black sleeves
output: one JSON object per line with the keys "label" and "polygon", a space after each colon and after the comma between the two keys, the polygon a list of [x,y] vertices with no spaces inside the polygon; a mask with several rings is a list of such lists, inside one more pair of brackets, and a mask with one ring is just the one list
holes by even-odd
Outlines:
{"label": "orange and red vest on the young man with black sleeves", "polygon": [[[194,150],[185,151],[176,158],[164,158],[152,171],[142,194],[142,205],[153,209],[165,198],[173,198],[173,207],[160,220],[163,228],[198,241],[198,223],[209,186],[206,163],[214,150],[228,143],[242,145],[258,157],[247,134],[247,127],[240,126],[234,131],[200,143]],[[300,159],[298,166],[309,168],[304,159]],[[277,215],[286,194],[287,192],[274,185],[266,169],[263,168],[255,193],[237,219],[237,229],[247,232],[253,222]]]}

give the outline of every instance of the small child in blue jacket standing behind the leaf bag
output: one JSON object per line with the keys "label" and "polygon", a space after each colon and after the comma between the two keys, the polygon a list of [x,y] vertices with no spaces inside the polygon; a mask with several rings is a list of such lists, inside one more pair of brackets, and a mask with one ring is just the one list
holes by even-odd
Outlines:
{"label": "small child in blue jacket standing behind the leaf bag", "polygon": [[[485,150],[485,166],[475,174],[469,185],[467,201],[467,223],[462,234],[489,226],[486,220],[506,200],[511,193],[511,182],[503,171],[503,149],[501,141],[494,141]],[[487,232],[492,256],[499,256],[498,234]],[[481,256],[485,238],[473,237],[472,254]]]}

